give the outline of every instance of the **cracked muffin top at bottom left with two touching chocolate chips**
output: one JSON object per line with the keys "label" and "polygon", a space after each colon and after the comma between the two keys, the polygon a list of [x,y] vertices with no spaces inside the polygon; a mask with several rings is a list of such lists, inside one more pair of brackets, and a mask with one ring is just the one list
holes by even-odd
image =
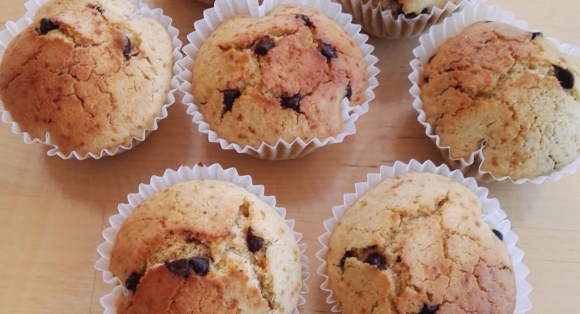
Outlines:
{"label": "cracked muffin top at bottom left with two touching chocolate chips", "polygon": [[296,239],[270,206],[226,181],[156,192],[125,220],[110,270],[119,314],[288,314],[302,289]]}

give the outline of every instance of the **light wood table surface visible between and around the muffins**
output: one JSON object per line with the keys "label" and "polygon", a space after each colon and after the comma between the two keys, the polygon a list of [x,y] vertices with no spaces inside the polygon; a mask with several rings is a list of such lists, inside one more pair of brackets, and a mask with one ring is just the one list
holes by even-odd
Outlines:
{"label": "light wood table surface visible between and around the muffins", "polygon": [[[1,25],[23,16],[24,2],[0,1]],[[146,2],[173,17],[183,41],[209,8],[194,0]],[[517,18],[546,36],[580,44],[577,0],[490,2],[514,10]],[[353,192],[354,183],[365,181],[366,174],[378,171],[380,165],[411,158],[443,162],[416,121],[408,93],[408,62],[418,39],[371,38],[370,43],[380,60],[380,86],[370,112],[356,123],[357,133],[297,160],[268,162],[223,151],[197,131],[180,103],[169,108],[169,117],[144,143],[100,160],[47,156],[47,147],[24,144],[22,136],[0,123],[0,313],[102,313],[99,298],[113,286],[103,283],[102,273],[93,265],[108,217],[140,182],[166,168],[200,161],[250,174],[255,184],[265,185],[266,195],[275,195],[278,206],[288,209],[310,257],[310,293],[300,312],[331,313],[327,293],[319,289],[320,261],[314,256],[331,207],[342,203],[342,195]],[[542,185],[485,186],[501,202],[520,236],[518,246],[526,253],[528,281],[534,286],[530,295],[534,309],[528,313],[578,313],[580,174]]]}

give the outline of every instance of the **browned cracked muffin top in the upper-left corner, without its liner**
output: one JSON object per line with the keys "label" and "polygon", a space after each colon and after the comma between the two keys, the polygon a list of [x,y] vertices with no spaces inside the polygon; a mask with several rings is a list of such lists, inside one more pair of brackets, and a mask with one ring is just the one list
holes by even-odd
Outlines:
{"label": "browned cracked muffin top in the upper-left corner, without its liner", "polygon": [[64,154],[129,145],[161,114],[173,47],[124,0],[52,0],[14,38],[0,64],[0,99],[32,138]]}

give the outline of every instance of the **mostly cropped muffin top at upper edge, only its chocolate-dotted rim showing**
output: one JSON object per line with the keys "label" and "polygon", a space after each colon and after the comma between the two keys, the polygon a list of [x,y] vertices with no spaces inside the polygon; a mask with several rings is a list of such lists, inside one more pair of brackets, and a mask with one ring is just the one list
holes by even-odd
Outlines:
{"label": "mostly cropped muffin top at upper edge, only its chocolate-dotted rim showing", "polygon": [[417,14],[431,12],[434,7],[444,8],[447,2],[458,4],[462,0],[362,0],[363,3],[369,1],[373,6],[380,5],[382,10],[392,10],[394,16],[405,14],[415,17]]}

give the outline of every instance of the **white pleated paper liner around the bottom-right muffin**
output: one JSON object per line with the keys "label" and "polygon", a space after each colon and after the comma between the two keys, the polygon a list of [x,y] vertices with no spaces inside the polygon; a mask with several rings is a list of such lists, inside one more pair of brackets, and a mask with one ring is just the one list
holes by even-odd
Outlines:
{"label": "white pleated paper liner around the bottom-right muffin", "polygon": [[[316,253],[316,257],[322,261],[322,265],[318,267],[318,275],[324,276],[325,281],[321,284],[320,289],[328,291],[330,294],[327,298],[328,304],[333,304],[338,302],[335,299],[332,290],[329,287],[328,275],[327,275],[327,253],[328,253],[328,242],[332,231],[334,230],[336,224],[343,216],[345,211],[357,201],[362,194],[368,191],[369,188],[374,187],[379,182],[382,182],[386,178],[397,176],[402,173],[408,172],[428,172],[439,174],[440,176],[451,178],[469,188],[470,191],[475,193],[480,199],[481,203],[487,210],[487,214],[481,215],[481,218],[488,224],[490,224],[494,229],[499,230],[503,234],[503,240],[506,243],[507,251],[509,251],[510,257],[512,257],[513,271],[516,276],[516,309],[514,314],[523,314],[526,311],[530,311],[532,304],[528,294],[532,291],[532,286],[525,280],[525,277],[530,273],[530,269],[527,268],[521,259],[524,257],[524,251],[516,247],[516,242],[519,239],[516,233],[511,231],[510,221],[506,219],[507,215],[499,207],[498,199],[488,198],[488,189],[484,187],[477,187],[477,182],[474,178],[465,178],[459,170],[451,171],[447,165],[436,166],[432,161],[427,160],[424,163],[420,163],[415,159],[411,159],[408,164],[396,161],[392,167],[380,166],[379,173],[369,173],[367,174],[367,182],[358,182],[354,185],[355,192],[347,193],[343,196],[344,203],[340,206],[332,207],[333,217],[324,221],[324,227],[327,232],[318,237],[318,241],[322,244],[322,249]],[[338,306],[335,304],[332,306],[332,312],[342,312]]]}

